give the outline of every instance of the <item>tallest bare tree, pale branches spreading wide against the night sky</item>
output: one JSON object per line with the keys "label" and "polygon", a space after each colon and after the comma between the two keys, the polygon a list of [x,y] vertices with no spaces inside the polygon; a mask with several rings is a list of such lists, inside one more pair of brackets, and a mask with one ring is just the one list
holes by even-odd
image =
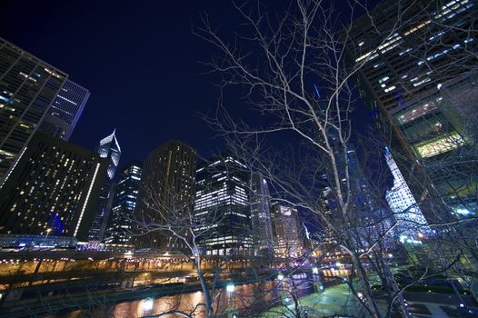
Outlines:
{"label": "tallest bare tree, pale branches spreading wide against the night sky", "polygon": [[[350,255],[362,284],[363,306],[379,317],[363,266],[363,256],[376,244],[363,250],[350,226],[359,215],[348,160],[355,102],[350,79],[363,64],[346,67],[344,41],[337,35],[344,25],[335,19],[334,7],[321,1],[296,1],[284,10],[261,3],[233,5],[244,21],[234,39],[226,41],[208,16],[195,32],[219,52],[206,65],[221,76],[221,87],[244,87],[247,102],[264,115],[264,121],[254,125],[235,120],[221,106],[210,123],[235,154],[271,180],[278,198],[319,217]],[[351,5],[351,15],[357,7]],[[267,139],[274,134],[290,135],[297,146],[277,151]],[[319,203],[324,174],[331,184],[332,215],[325,214]],[[403,305],[396,311],[407,316]]]}

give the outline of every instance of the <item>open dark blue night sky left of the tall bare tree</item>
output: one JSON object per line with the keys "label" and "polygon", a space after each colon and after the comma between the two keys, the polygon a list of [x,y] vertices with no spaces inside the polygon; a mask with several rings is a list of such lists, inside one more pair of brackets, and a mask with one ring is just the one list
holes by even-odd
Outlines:
{"label": "open dark blue night sky left of the tall bare tree", "polygon": [[[7,0],[0,36],[90,90],[70,142],[93,150],[116,128],[120,165],[173,138],[208,156],[222,144],[200,118],[218,95],[198,63],[210,59],[211,46],[192,34],[201,12],[214,25],[239,23],[227,1]],[[239,98],[227,103],[244,108]],[[355,113],[368,125],[365,109]]]}

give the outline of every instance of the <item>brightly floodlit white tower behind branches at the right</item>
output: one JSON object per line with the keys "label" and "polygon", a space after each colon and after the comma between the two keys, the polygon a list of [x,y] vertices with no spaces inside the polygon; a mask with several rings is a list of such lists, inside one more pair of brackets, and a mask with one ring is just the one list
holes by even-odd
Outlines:
{"label": "brightly floodlit white tower behind branches at the right", "polygon": [[385,198],[400,223],[398,232],[402,240],[406,239],[405,236],[416,239],[419,233],[427,233],[430,229],[388,147],[385,147],[385,158],[393,174],[393,187],[387,191]]}

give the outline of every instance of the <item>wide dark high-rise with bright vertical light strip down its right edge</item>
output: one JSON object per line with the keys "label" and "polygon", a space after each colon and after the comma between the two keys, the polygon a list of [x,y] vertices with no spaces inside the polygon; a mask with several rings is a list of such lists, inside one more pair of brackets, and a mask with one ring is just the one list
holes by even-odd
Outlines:
{"label": "wide dark high-rise with bright vertical light strip down its right edge", "polygon": [[94,152],[36,133],[0,189],[0,232],[85,240],[107,165]]}

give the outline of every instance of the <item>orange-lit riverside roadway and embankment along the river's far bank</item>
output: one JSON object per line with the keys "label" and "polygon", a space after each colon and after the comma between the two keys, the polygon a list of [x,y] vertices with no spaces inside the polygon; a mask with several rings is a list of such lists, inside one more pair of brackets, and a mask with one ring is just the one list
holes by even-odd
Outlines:
{"label": "orange-lit riverside roadway and embankment along the river's far bank", "polygon": [[[272,268],[272,269],[271,269]],[[273,277],[274,265],[242,256],[204,256],[206,277],[251,282]],[[200,290],[183,253],[75,250],[0,252],[0,316],[22,317]]]}

